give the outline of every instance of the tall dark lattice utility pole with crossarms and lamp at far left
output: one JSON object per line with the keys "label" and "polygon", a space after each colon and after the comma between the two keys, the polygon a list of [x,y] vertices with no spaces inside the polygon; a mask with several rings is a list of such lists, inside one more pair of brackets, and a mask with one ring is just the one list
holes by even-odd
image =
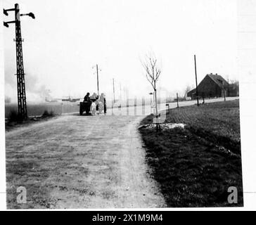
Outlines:
{"label": "tall dark lattice utility pole with crossarms and lamp at far left", "polygon": [[15,42],[16,42],[16,68],[17,68],[17,91],[18,91],[18,116],[20,120],[27,119],[27,101],[25,91],[25,77],[24,77],[24,65],[23,65],[23,46],[20,29],[20,16],[28,15],[34,19],[33,13],[20,14],[20,8],[18,4],[15,4],[14,8],[4,9],[4,15],[8,15],[8,11],[14,11],[15,20],[10,22],[4,22],[5,27],[9,27],[9,23],[15,23]]}

